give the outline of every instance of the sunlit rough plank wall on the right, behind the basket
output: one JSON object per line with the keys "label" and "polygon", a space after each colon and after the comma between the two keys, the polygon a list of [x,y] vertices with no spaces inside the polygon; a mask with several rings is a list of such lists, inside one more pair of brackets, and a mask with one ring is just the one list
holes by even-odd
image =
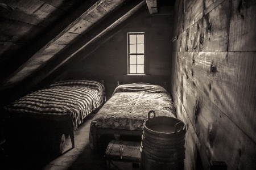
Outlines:
{"label": "sunlit rough plank wall on the right, behind the basket", "polygon": [[256,3],[175,3],[171,93],[187,125],[185,169],[256,169]]}

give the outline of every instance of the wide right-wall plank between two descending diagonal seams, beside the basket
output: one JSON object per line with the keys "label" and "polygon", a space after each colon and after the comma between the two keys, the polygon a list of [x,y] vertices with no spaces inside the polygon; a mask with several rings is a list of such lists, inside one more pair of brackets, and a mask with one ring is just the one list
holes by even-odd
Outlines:
{"label": "wide right-wall plank between two descending diagonal seams, beside the basket", "polygon": [[205,144],[203,148],[208,161],[224,161],[228,169],[254,169],[255,143],[208,96],[193,87],[192,82],[183,76],[181,83],[184,112],[192,122],[200,142]]}

